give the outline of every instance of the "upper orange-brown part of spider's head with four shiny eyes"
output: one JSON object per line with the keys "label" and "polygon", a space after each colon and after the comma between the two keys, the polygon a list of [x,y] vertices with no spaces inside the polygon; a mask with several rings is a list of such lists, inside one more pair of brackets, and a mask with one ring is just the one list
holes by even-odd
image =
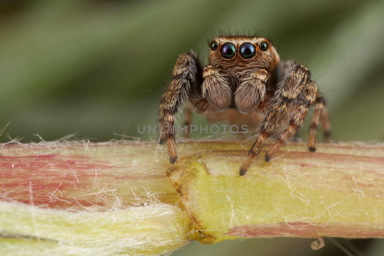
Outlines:
{"label": "upper orange-brown part of spider's head with four shiny eyes", "polygon": [[209,64],[273,69],[280,62],[272,42],[260,36],[219,36],[209,43]]}

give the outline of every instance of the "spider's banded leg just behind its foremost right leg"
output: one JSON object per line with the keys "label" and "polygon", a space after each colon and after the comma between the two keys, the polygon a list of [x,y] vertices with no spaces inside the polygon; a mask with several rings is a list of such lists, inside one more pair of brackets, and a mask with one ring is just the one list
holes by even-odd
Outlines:
{"label": "spider's banded leg just behind its foremost right leg", "polygon": [[303,121],[308,114],[310,106],[316,102],[317,93],[317,86],[312,80],[305,85],[303,94],[299,97],[295,109],[291,114],[288,127],[279,135],[278,140],[273,147],[264,155],[266,162],[269,162],[271,157],[276,154],[280,147],[301,127],[301,124],[303,124]]}

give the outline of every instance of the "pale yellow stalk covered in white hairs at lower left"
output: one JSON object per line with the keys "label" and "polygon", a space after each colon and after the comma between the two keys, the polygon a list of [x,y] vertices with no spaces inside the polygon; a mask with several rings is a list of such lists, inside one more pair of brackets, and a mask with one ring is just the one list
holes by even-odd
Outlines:
{"label": "pale yellow stalk covered in white hairs at lower left", "polygon": [[0,201],[0,209],[7,220],[0,223],[4,255],[163,255],[189,241],[185,213],[151,196],[136,206],[117,203],[107,211],[59,210],[15,201]]}

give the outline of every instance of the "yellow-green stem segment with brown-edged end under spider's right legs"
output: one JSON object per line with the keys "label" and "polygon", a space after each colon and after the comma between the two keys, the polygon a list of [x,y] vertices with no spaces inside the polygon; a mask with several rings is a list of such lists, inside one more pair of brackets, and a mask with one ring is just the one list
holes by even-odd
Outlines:
{"label": "yellow-green stem segment with brown-edged end under spider's right legs", "polygon": [[243,152],[206,152],[180,160],[167,175],[202,243],[384,237],[384,157],[370,154],[384,155],[384,150],[349,146],[290,151],[270,163],[258,160],[245,177],[237,169]]}

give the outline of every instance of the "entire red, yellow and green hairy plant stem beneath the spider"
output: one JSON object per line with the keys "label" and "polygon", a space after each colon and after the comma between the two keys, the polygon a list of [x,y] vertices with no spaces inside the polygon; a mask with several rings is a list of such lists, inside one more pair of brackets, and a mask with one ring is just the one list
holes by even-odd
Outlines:
{"label": "entire red, yellow and green hairy plant stem beneath the spider", "polygon": [[0,248],[158,255],[190,239],[384,237],[384,144],[319,144],[311,153],[291,143],[239,177],[249,147],[190,140],[178,144],[189,156],[169,168],[153,142],[2,145]]}

